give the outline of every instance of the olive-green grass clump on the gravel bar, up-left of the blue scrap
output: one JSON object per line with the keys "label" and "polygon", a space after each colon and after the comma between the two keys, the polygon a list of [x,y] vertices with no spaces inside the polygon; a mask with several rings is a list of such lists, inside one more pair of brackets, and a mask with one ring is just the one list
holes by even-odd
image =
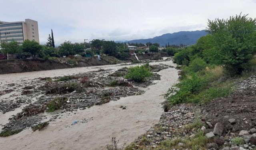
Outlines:
{"label": "olive-green grass clump on the gravel bar, up-left of the blue scrap", "polygon": [[68,98],[66,98],[66,97],[54,98],[53,100],[51,100],[48,103],[46,112],[54,112],[55,110],[60,109],[62,106],[64,106],[66,104],[67,100],[68,100]]}

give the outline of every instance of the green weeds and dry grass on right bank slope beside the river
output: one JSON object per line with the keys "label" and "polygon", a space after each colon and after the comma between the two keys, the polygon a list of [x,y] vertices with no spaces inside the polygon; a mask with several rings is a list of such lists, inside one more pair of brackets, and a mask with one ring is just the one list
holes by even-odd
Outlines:
{"label": "green weeds and dry grass on right bank slope beside the river", "polygon": [[222,67],[204,68],[205,64],[193,65],[182,67],[180,73],[182,80],[176,84],[177,88],[171,88],[168,91],[167,100],[170,104],[210,102],[214,98],[228,96],[232,92],[232,84],[222,80],[225,78]]}

